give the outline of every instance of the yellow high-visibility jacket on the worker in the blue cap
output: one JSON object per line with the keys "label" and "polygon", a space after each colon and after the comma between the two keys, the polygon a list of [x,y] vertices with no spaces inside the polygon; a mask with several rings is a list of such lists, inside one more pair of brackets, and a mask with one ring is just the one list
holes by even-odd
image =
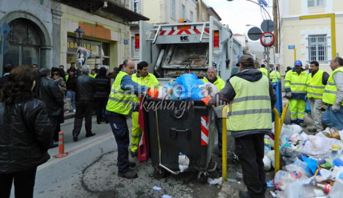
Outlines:
{"label": "yellow high-visibility jacket on the worker in the blue cap", "polygon": [[284,86],[290,88],[293,94],[306,94],[307,73],[302,71],[300,74],[289,71],[286,73]]}

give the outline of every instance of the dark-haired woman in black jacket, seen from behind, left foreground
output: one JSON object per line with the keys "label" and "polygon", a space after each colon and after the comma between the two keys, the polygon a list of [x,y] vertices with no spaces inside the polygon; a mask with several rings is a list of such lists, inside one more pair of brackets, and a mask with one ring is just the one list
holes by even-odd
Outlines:
{"label": "dark-haired woman in black jacket, seen from behind, left foreground", "polygon": [[50,158],[52,124],[42,100],[32,92],[37,73],[17,67],[0,94],[0,198],[32,198],[37,167]]}

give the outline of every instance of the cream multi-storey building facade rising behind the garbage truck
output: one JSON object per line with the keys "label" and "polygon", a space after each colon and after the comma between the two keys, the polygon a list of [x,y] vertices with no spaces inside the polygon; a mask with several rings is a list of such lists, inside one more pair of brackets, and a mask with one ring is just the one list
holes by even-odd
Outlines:
{"label": "cream multi-storey building facade rising behind the garbage truck", "polygon": [[[181,19],[191,22],[209,21],[210,16],[221,21],[216,11],[202,0],[131,0],[130,9],[149,18],[150,24],[175,24]],[[139,51],[135,49],[135,34],[139,33],[138,22],[131,23],[131,59],[139,61]]]}

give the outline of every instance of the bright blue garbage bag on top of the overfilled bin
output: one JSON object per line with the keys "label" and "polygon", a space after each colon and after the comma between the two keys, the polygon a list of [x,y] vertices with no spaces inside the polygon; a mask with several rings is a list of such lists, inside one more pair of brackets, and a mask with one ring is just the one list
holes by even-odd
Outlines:
{"label": "bright blue garbage bag on top of the overfilled bin", "polygon": [[204,82],[196,77],[196,74],[182,74],[175,79],[177,85],[174,86],[174,90],[178,90],[177,94],[181,92],[177,98],[179,99],[192,99],[200,100],[205,96],[201,92],[198,85],[203,85]]}

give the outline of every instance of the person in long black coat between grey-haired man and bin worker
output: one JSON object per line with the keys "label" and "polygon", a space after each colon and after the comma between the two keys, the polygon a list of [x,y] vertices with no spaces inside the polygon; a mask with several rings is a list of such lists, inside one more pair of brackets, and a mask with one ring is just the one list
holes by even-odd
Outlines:
{"label": "person in long black coat between grey-haired man and bin worker", "polygon": [[106,110],[106,105],[108,101],[108,96],[111,91],[110,79],[106,76],[106,68],[100,68],[99,74],[95,77],[97,83],[97,92],[94,94],[94,101],[97,111],[97,123],[100,124],[103,121],[108,123],[107,118],[105,118],[103,112]]}

